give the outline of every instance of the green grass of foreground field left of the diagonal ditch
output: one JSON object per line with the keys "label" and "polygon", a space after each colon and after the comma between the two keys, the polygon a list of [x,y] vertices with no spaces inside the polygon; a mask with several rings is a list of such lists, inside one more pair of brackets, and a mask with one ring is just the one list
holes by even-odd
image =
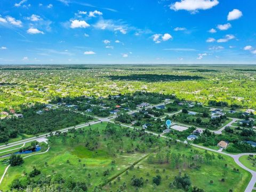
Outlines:
{"label": "green grass of foreground field left of the diagonal ditch", "polygon": [[[95,124],[91,128],[97,127],[99,131],[102,131],[106,125],[106,123]],[[85,127],[85,129],[87,128]],[[129,138],[125,139],[127,140],[124,143],[130,142]],[[0,185],[0,190],[9,190],[9,186],[14,179],[25,177],[23,173],[31,172],[33,166],[35,166],[36,169],[45,175],[61,173],[63,178],[68,178],[71,175],[76,181],[90,183],[89,191],[91,191],[94,186],[106,182],[106,180],[121,173],[126,167],[129,167],[133,162],[146,155],[142,153],[123,153],[123,155],[117,154],[116,157],[113,157],[108,154],[106,143],[107,141],[102,139],[100,147],[97,150],[91,151],[83,143],[75,143],[74,146],[71,146],[69,143],[63,145],[61,139],[57,139],[55,144],[50,145],[49,152],[28,157],[24,159],[25,162],[21,166],[10,167]],[[80,160],[81,162],[79,162]],[[114,165],[111,164],[113,160],[115,160]],[[47,162],[47,165],[45,165],[45,162]],[[1,175],[6,166],[6,164],[0,164]],[[114,167],[114,170],[111,170],[111,167]],[[103,177],[102,173],[107,169],[109,169],[109,175]],[[96,172],[99,173],[98,176]],[[89,173],[91,174],[90,179],[87,176]]]}

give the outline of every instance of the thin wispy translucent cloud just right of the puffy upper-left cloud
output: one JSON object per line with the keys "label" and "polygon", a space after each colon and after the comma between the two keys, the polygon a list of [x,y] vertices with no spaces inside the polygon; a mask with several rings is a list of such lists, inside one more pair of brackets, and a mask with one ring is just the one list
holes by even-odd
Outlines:
{"label": "thin wispy translucent cloud just right of the puffy upper-left cloud", "polygon": [[97,23],[93,25],[94,28],[96,29],[101,29],[101,30],[110,30],[110,31],[119,31],[122,34],[126,34],[127,30],[133,30],[134,27],[130,27],[126,23],[124,23],[121,20],[103,20],[100,19]]}

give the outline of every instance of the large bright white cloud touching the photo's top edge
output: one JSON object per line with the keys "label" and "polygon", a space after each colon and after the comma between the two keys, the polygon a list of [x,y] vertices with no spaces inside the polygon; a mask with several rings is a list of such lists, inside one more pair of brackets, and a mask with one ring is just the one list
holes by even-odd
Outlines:
{"label": "large bright white cloud touching the photo's top edge", "polygon": [[196,13],[198,10],[207,10],[219,4],[218,0],[181,0],[170,5],[174,11],[186,10]]}

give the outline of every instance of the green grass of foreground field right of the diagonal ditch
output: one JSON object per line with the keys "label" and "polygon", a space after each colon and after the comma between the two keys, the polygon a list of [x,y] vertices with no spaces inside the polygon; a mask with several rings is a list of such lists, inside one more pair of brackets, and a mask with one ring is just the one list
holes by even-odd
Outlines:
{"label": "green grass of foreground field right of the diagonal ditch", "polygon": [[[196,149],[201,152],[204,151],[198,148]],[[190,149],[186,148],[183,148],[182,150],[171,148],[172,153],[185,153],[186,155],[189,155],[189,150]],[[120,181],[115,179],[111,182],[111,187],[106,185],[104,188],[107,191],[116,191],[125,182],[127,186],[126,191],[133,192],[135,191],[135,187],[131,186],[131,179],[133,175],[135,175],[136,178],[142,177],[144,180],[143,187],[139,188],[139,191],[184,191],[177,187],[169,187],[170,182],[172,182],[174,177],[181,172],[182,176],[184,173],[189,175],[192,186],[202,188],[207,192],[229,191],[229,189],[233,189],[233,191],[237,192],[244,191],[251,179],[251,174],[236,165],[232,158],[222,155],[224,159],[220,160],[217,158],[218,154],[215,153],[214,155],[216,158],[209,164],[202,164],[200,170],[187,169],[184,167],[172,169],[170,164],[149,164],[146,159],[143,159],[143,161],[135,165],[134,170],[128,171],[128,175],[126,173],[120,175]],[[225,167],[226,163],[228,164],[227,167]],[[137,169],[137,166],[140,167],[139,170]],[[234,168],[239,169],[239,172],[233,171]],[[159,170],[159,173],[156,173],[157,169]],[[165,172],[163,169],[165,169]],[[149,176],[147,176],[147,172],[149,172]],[[223,172],[226,172],[225,182],[221,182]],[[155,190],[153,187],[153,177],[156,177],[156,175],[161,175],[162,181]],[[169,175],[168,179],[166,179],[166,175]],[[148,183],[145,183],[146,179],[149,180]],[[210,180],[213,180],[212,184],[210,183]],[[116,181],[116,184],[114,184],[114,181]]]}

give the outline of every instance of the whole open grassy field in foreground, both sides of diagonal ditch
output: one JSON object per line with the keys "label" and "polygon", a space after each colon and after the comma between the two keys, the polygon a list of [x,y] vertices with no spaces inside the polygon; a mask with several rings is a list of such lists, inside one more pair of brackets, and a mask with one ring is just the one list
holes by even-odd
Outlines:
{"label": "whole open grassy field in foreground, both sides of diagonal ditch", "polygon": [[[107,123],[99,123],[91,126],[92,130],[99,131],[100,134],[103,134]],[[118,130],[119,126],[115,125]],[[85,127],[85,129],[90,129]],[[132,130],[132,129],[129,129]],[[72,133],[69,133],[72,135]],[[75,181],[86,182],[89,187],[89,191],[92,191],[95,186],[99,184],[103,185],[103,189],[106,191],[116,191],[119,188],[121,183],[126,183],[126,191],[134,191],[135,188],[131,186],[131,177],[135,175],[136,177],[143,177],[147,179],[146,173],[149,172],[150,176],[148,177],[149,183],[145,183],[140,191],[152,191],[152,177],[160,174],[162,177],[161,185],[157,186],[156,191],[165,191],[169,190],[169,183],[173,181],[175,175],[178,172],[187,173],[191,179],[191,185],[197,186],[198,188],[203,188],[205,191],[226,191],[227,189],[233,188],[234,191],[243,191],[249,182],[251,175],[240,169],[232,158],[223,156],[223,159],[218,159],[217,155],[214,154],[215,158],[206,163],[204,156],[205,151],[202,149],[196,149],[194,147],[185,147],[181,143],[178,145],[173,143],[170,146],[170,151],[172,154],[180,153],[182,158],[180,159],[179,168],[173,168],[171,163],[153,163],[149,164],[147,161],[149,154],[159,153],[159,149],[153,148],[148,149],[145,153],[141,151],[134,151],[133,153],[115,153],[114,157],[109,152],[107,147],[108,140],[101,138],[99,141],[99,147],[94,150],[90,150],[85,147],[83,136],[80,135],[77,137],[78,140],[71,145],[71,143],[63,144],[60,138],[50,139],[50,150],[45,154],[31,156],[25,159],[25,163],[20,166],[10,167],[7,171],[7,174],[3,180],[3,183],[0,186],[1,190],[9,190],[9,186],[14,179],[17,178],[26,178],[24,173],[29,173],[33,170],[33,166],[36,169],[41,170],[41,175],[54,175],[60,173],[63,178],[68,178],[70,175],[74,178]],[[129,143],[133,143],[134,146],[141,146],[142,141],[140,138],[131,140],[129,137],[122,137],[124,143],[124,149]],[[162,139],[160,139],[162,140]],[[164,147],[162,150],[165,150]],[[195,150],[196,149],[196,150]],[[161,150],[161,151],[162,151]],[[211,153],[212,154],[212,153]],[[195,163],[200,168],[188,168],[190,157],[198,158]],[[201,159],[199,161],[199,159]],[[111,162],[115,160],[115,164]],[[69,163],[67,163],[69,161]],[[47,164],[45,164],[47,162]],[[129,167],[134,164],[134,170],[130,170]],[[224,165],[228,166],[225,167]],[[140,167],[137,170],[137,166]],[[155,168],[154,168],[155,166]],[[2,174],[6,164],[0,164],[0,173]],[[113,167],[113,168],[112,168]],[[233,169],[239,169],[239,172],[233,171]],[[109,169],[109,175],[103,177],[102,172]],[[159,173],[156,174],[156,169],[159,170]],[[165,169],[165,173],[163,173]],[[128,170],[129,174],[126,175],[125,171]],[[98,172],[98,175],[97,175]],[[223,176],[225,172],[225,176]],[[90,177],[89,177],[90,173]],[[121,175],[121,181],[117,181],[118,175]],[[165,175],[169,175],[169,179],[165,179]],[[221,182],[221,178],[225,177],[225,182]],[[35,180],[38,180],[40,175],[35,177]],[[199,179],[198,179],[199,178]],[[211,184],[210,180],[214,182]],[[109,189],[108,182],[114,183],[111,189]],[[181,189],[173,188],[172,191],[182,191]]]}

